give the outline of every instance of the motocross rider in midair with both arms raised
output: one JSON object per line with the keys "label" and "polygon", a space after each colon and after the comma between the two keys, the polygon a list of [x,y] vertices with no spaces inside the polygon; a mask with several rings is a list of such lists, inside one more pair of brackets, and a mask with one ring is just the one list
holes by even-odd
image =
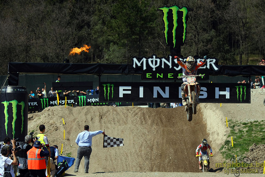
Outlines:
{"label": "motocross rider in midair with both arms raised", "polygon": [[[179,59],[178,56],[175,56],[175,59],[177,59],[178,64],[181,66],[183,74],[186,76],[190,76],[190,75],[197,75],[197,70],[203,66],[206,62],[206,58],[207,56],[203,57],[203,61],[200,61],[199,63],[195,63],[195,59],[192,56],[189,56],[186,60],[186,63],[184,64],[183,61],[181,61]],[[187,102],[185,100],[186,98],[186,93],[185,93],[185,85],[187,85],[187,78],[182,78],[183,80],[183,84],[181,84],[181,97],[182,97],[182,104],[183,106],[187,105]],[[199,83],[196,82],[196,84],[199,86],[199,88],[201,89],[201,85]],[[200,89],[198,90],[198,98],[200,95]],[[196,93],[197,94],[197,93]],[[199,103],[198,103],[199,104]]]}

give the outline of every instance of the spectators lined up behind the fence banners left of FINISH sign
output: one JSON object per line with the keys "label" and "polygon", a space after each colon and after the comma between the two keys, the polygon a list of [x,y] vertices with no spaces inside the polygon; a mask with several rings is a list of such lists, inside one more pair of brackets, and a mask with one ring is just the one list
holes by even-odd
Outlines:
{"label": "spectators lined up behind the fence banners left of FINISH sign", "polygon": [[[57,77],[56,82],[60,82],[61,81],[61,76]],[[73,91],[69,91],[69,90],[64,90],[63,92],[61,90],[53,90],[53,88],[51,88],[51,90],[48,93],[47,96],[47,92],[46,92],[46,83],[44,84],[44,88],[40,89],[40,87],[38,87],[36,89],[36,94],[33,93],[33,91],[30,91],[29,94],[29,99],[32,98],[47,98],[47,97],[56,97],[57,94],[58,96],[77,96],[77,95],[93,95],[93,94],[99,94],[99,86],[97,86],[96,89],[93,90],[73,90]],[[72,93],[72,95],[70,95]]]}

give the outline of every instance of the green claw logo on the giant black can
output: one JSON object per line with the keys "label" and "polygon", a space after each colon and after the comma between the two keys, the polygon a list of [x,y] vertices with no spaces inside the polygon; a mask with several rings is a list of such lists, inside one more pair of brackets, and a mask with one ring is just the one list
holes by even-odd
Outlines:
{"label": "green claw logo on the giant black can", "polygon": [[5,113],[5,127],[6,127],[6,136],[7,136],[7,123],[8,123],[8,105],[9,103],[12,104],[12,110],[13,110],[13,121],[12,121],[12,129],[13,129],[13,138],[15,136],[15,122],[16,122],[16,112],[17,112],[17,105],[21,105],[21,119],[22,119],[22,125],[21,125],[21,133],[23,132],[23,124],[24,124],[24,108],[25,108],[25,102],[21,101],[20,103],[16,100],[12,100],[12,101],[4,101],[1,102],[2,104],[4,104],[5,109],[4,109],[4,113]]}

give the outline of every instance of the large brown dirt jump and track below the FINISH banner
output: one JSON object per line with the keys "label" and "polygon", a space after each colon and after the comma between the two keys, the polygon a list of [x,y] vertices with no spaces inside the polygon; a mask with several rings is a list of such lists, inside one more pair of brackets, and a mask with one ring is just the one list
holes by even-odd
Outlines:
{"label": "large brown dirt jump and track below the FINISH banner", "polygon": [[[89,173],[83,173],[82,159],[79,172],[73,173],[74,168],[71,167],[67,171],[68,176],[202,176],[202,173],[178,173],[199,172],[195,149],[202,138],[208,139],[214,152],[211,168],[216,173],[208,173],[207,176],[224,176],[226,174],[216,169],[214,163],[223,162],[219,148],[228,131],[225,117],[245,120],[249,119],[249,114],[253,114],[252,107],[264,110],[263,105],[257,102],[261,97],[264,98],[263,92],[254,91],[251,104],[223,104],[222,107],[220,104],[200,104],[192,122],[187,121],[183,107],[51,107],[40,113],[29,114],[28,131],[38,133],[39,125],[45,124],[50,145],[57,144],[61,151],[63,143],[62,155],[74,158],[77,154],[75,139],[85,124],[90,125],[90,131],[105,129],[109,136],[124,138],[123,147],[102,148],[103,135],[93,137]],[[246,113],[242,114],[242,108]],[[263,114],[262,111],[255,112],[258,120],[264,119]],[[240,176],[245,175],[262,174]]]}

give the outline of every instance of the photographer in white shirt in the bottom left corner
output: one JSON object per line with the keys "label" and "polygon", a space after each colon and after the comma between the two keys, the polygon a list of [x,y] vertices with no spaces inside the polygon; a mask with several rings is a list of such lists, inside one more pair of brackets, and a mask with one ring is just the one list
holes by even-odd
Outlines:
{"label": "photographer in white shirt in the bottom left corner", "polygon": [[[7,156],[9,155],[9,153],[12,153],[12,155],[10,155],[10,157],[8,158]],[[17,165],[15,154],[16,151],[10,148],[9,145],[2,146],[0,155],[0,176],[15,177],[14,169],[12,168],[13,165]],[[12,156],[14,157],[14,160],[12,160]]]}

